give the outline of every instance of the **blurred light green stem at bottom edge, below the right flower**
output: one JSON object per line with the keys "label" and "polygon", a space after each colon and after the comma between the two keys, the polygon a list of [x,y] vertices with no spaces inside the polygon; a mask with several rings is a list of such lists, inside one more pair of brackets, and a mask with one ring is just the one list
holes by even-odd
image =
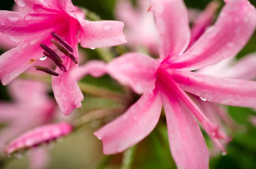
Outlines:
{"label": "blurred light green stem at bottom edge, below the right flower", "polygon": [[121,169],[131,169],[132,163],[134,162],[136,145],[127,149],[123,154]]}

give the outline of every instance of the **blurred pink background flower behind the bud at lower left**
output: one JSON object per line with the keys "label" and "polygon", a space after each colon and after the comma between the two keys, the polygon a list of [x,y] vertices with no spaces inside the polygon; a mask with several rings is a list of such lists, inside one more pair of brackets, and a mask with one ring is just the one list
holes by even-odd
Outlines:
{"label": "blurred pink background flower behind the bud at lower left", "polygon": [[[7,127],[0,132],[0,149],[29,129],[50,123],[54,117],[55,102],[48,97],[47,86],[32,80],[13,80],[9,85],[12,102],[0,102],[0,123]],[[46,149],[33,150],[29,157],[31,169],[44,169],[48,164]],[[39,153],[38,153],[39,152]]]}

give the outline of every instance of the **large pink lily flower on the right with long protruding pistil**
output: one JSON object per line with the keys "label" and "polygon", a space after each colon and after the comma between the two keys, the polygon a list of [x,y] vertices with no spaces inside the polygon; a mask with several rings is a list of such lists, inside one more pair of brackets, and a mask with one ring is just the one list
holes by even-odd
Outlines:
{"label": "large pink lily flower on the right with long protruding pistil", "polygon": [[186,52],[190,30],[183,1],[154,0],[152,11],[160,37],[159,60],[145,54],[128,53],[108,64],[98,62],[98,66],[92,66],[90,63],[76,71],[91,74],[89,68],[93,67],[94,75],[108,73],[142,94],[123,115],[94,134],[102,140],[105,154],[122,152],[154,129],[163,104],[171,152],[178,168],[207,169],[208,149],[196,119],[224,152],[221,140],[229,138],[210,122],[186,92],[224,105],[256,107],[256,82],[190,71],[237,54],[254,32],[256,10],[247,0],[227,1],[215,25]]}

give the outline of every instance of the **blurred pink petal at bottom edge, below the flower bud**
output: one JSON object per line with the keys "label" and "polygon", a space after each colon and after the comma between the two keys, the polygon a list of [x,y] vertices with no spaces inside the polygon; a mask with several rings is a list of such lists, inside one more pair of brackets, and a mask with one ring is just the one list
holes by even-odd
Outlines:
{"label": "blurred pink petal at bottom edge, below the flower bud", "polygon": [[49,165],[49,154],[47,149],[35,148],[30,150],[30,169],[46,169]]}

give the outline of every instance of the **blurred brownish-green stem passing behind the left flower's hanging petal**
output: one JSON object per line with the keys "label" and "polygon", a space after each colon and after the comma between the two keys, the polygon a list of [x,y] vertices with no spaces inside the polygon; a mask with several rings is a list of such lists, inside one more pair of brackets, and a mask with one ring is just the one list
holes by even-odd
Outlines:
{"label": "blurred brownish-green stem passing behind the left flower's hanging petal", "polygon": [[[38,81],[41,81],[41,82],[51,85],[51,77],[50,76],[45,76],[45,75],[41,76],[38,74],[21,74],[19,77],[22,79],[26,79],[26,80],[38,80]],[[94,86],[94,85],[91,85],[88,83],[84,83],[84,82],[79,82],[78,85],[79,85],[81,91],[88,95],[117,100],[119,102],[125,102],[125,97],[118,92],[113,92],[108,89],[99,88],[97,86]]]}

